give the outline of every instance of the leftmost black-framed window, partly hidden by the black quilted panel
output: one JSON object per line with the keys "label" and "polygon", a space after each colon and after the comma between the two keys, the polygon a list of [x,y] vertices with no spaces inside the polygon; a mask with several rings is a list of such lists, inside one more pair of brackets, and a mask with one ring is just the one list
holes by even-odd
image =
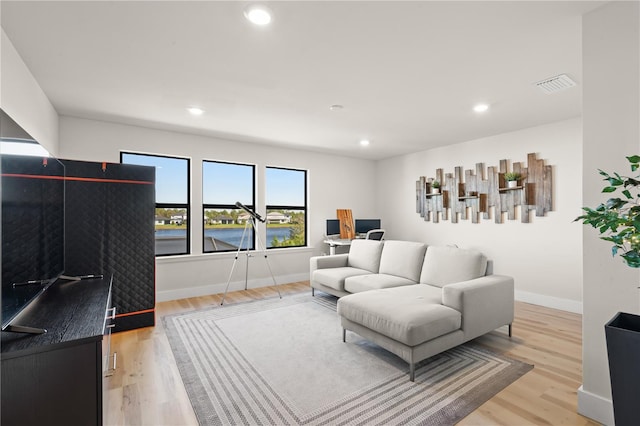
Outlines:
{"label": "leftmost black-framed window, partly hidden by the black quilted panel", "polygon": [[156,168],[156,256],[189,254],[189,159],[122,152],[120,162]]}

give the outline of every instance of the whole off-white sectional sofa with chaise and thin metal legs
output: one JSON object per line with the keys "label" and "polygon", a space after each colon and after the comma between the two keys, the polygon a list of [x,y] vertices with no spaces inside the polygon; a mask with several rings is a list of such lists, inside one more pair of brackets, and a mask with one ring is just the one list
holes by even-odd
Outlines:
{"label": "whole off-white sectional sofa with chaise and thin metal legs", "polygon": [[353,241],[347,254],[312,257],[315,290],[340,297],[346,330],[409,363],[513,322],[513,278],[493,275],[474,250],[409,241]]}

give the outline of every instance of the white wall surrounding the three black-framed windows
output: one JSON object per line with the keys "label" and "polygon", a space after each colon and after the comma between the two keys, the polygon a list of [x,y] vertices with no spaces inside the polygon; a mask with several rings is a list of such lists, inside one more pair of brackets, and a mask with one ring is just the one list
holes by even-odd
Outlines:
{"label": "white wall surrounding the three black-framed windows", "polygon": [[[233,254],[202,254],[202,160],[223,160],[257,166],[257,211],[264,212],[264,167],[308,170],[309,248],[268,251],[279,284],[309,279],[309,257],[328,252],[322,243],[325,220],[336,209],[352,209],[354,217],[377,217],[375,163],[309,151],[268,147],[62,116],[60,158],[120,161],[120,151],[135,151],[191,158],[192,255],[156,260],[158,300],[171,300],[223,292],[233,264]],[[264,228],[260,228],[264,241]],[[232,289],[244,288],[246,257],[241,257]],[[272,284],[261,257],[249,260],[249,287]]]}

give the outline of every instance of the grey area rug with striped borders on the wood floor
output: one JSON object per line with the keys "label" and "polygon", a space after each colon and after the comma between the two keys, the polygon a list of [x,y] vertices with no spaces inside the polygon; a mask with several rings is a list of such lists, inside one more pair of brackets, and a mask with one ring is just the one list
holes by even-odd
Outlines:
{"label": "grey area rug with striped borders on the wood floor", "polygon": [[288,296],[165,316],[202,425],[451,425],[533,366],[465,344],[407,364],[348,333],[336,299]]}

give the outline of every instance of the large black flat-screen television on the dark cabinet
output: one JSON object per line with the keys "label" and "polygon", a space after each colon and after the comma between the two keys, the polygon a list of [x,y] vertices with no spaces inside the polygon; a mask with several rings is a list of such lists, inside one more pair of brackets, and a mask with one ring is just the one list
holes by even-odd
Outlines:
{"label": "large black flat-screen television on the dark cabinet", "polygon": [[[2,330],[64,272],[64,165],[0,155]],[[25,327],[23,327],[25,328]]]}

